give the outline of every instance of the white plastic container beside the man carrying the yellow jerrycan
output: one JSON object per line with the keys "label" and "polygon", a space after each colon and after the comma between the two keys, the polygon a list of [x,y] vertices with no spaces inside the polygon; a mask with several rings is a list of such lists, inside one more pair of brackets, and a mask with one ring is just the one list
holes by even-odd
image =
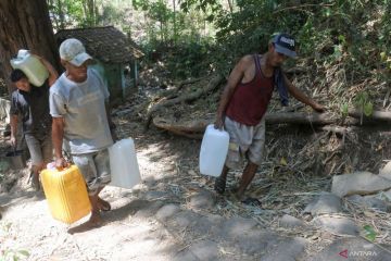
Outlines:
{"label": "white plastic container beside the man carrying the yellow jerrycan", "polygon": [[111,183],[122,188],[133,188],[141,182],[135,142],[131,138],[116,141],[109,148]]}

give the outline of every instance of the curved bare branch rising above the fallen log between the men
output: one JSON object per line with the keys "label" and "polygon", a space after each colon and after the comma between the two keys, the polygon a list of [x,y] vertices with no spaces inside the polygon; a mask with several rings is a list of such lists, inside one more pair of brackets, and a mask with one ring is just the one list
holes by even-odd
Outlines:
{"label": "curved bare branch rising above the fallen log between the men", "polygon": [[195,91],[184,94],[182,96],[179,96],[174,99],[163,100],[163,101],[154,104],[153,107],[151,107],[151,109],[149,109],[148,113],[147,113],[146,130],[149,128],[149,125],[151,123],[152,115],[154,112],[161,110],[164,107],[171,107],[171,105],[180,103],[182,101],[195,100],[195,99],[200,98],[202,95],[216,88],[218,86],[218,84],[222,82],[222,79],[223,79],[223,76],[217,74],[214,77],[212,77],[210,83],[204,88],[199,88]]}

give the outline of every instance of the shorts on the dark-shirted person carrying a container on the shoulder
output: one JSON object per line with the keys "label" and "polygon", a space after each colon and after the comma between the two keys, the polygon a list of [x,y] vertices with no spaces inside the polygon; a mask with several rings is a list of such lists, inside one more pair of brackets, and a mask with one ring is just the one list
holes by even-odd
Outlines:
{"label": "shorts on the dark-shirted person carrying a container on the shoulder", "polygon": [[28,151],[33,165],[49,163],[53,160],[53,146],[51,133],[42,138],[36,138],[31,134],[25,134]]}

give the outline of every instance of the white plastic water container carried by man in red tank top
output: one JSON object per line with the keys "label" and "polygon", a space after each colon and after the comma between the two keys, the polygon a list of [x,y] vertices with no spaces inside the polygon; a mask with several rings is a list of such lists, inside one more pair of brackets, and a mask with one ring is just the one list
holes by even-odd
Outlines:
{"label": "white plastic water container carried by man in red tank top", "polygon": [[228,153],[229,135],[225,130],[207,125],[200,150],[200,173],[219,176]]}

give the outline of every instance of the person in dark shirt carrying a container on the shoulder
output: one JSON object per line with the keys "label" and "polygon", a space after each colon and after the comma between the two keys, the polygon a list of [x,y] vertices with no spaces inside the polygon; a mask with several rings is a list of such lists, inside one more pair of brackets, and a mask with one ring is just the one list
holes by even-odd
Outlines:
{"label": "person in dark shirt carrying a container on the shoulder", "polygon": [[[38,57],[39,58],[39,57]],[[51,116],[49,113],[49,87],[58,78],[53,66],[39,58],[49,71],[49,78],[42,86],[34,86],[21,70],[11,73],[16,90],[11,98],[11,145],[16,147],[17,122],[22,121],[23,135],[31,157],[30,178],[33,187],[39,190],[39,173],[52,160]]]}

